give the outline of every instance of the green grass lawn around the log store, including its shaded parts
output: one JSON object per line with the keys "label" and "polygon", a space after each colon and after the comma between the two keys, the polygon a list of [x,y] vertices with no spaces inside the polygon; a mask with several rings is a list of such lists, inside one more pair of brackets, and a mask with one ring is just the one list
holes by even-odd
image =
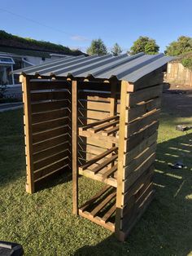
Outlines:
{"label": "green grass lawn around the log store, including its shaded parts", "polygon": [[[192,118],[162,113],[155,163],[155,200],[128,240],[72,215],[72,181],[65,174],[33,195],[25,192],[21,110],[0,113],[0,240],[24,246],[25,255],[192,255],[192,133],[175,130]],[[191,144],[190,144],[191,143]],[[187,166],[173,170],[168,163]],[[101,183],[81,178],[81,201]]]}

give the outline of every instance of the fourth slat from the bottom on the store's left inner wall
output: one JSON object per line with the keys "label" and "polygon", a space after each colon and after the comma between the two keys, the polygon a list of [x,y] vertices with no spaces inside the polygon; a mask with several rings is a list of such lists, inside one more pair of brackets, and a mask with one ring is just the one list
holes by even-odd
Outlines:
{"label": "fourth slat from the bottom on the store's left inner wall", "polygon": [[40,161],[40,160],[42,160],[46,157],[51,157],[51,156],[55,155],[56,153],[66,151],[69,148],[70,148],[70,145],[69,145],[68,141],[64,142],[64,143],[59,143],[58,145],[53,146],[53,147],[51,145],[50,148],[47,147],[43,151],[34,153],[33,154],[33,161]]}

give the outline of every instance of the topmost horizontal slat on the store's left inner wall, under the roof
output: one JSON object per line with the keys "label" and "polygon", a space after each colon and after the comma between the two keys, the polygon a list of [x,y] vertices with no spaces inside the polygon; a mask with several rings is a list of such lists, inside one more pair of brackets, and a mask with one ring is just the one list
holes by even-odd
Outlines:
{"label": "topmost horizontal slat on the store's left inner wall, under the roof", "polygon": [[69,89],[70,82],[63,82],[63,81],[37,81],[37,82],[30,82],[30,90],[54,90],[54,89]]}

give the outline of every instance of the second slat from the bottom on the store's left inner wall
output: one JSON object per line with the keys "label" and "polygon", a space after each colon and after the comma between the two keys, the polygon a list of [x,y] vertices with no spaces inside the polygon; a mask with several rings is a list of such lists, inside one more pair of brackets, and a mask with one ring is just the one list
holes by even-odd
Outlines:
{"label": "second slat from the bottom on the store's left inner wall", "polygon": [[68,157],[64,160],[62,159],[61,161],[58,161],[50,166],[47,166],[46,168],[35,171],[34,180],[37,181],[38,179],[41,179],[42,177],[45,177],[48,174],[52,174],[55,171],[59,171],[63,169],[67,165],[68,165]]}

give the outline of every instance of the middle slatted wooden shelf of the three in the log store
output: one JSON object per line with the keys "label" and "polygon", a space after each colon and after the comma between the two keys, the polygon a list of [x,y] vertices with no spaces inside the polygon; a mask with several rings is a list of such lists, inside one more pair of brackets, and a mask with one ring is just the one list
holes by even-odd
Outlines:
{"label": "middle slatted wooden shelf of the three in the log store", "polygon": [[[117,150],[117,147],[112,147],[100,155],[90,159],[85,163],[85,165],[79,167],[79,174],[116,188],[117,164],[114,164],[114,161],[116,161],[118,157]],[[111,156],[108,157],[109,155]],[[103,161],[100,162],[101,160]]]}

